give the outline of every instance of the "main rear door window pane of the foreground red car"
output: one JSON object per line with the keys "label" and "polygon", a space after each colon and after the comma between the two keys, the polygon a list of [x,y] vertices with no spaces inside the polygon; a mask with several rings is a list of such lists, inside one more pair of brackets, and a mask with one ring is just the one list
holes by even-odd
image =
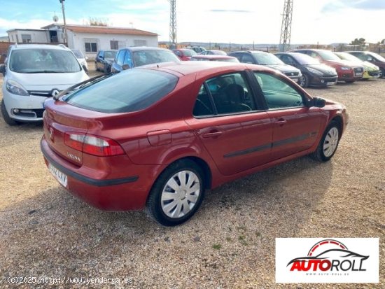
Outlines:
{"label": "main rear door window pane of the foreground red car", "polygon": [[216,76],[206,83],[218,114],[256,110],[251,89],[242,73]]}

